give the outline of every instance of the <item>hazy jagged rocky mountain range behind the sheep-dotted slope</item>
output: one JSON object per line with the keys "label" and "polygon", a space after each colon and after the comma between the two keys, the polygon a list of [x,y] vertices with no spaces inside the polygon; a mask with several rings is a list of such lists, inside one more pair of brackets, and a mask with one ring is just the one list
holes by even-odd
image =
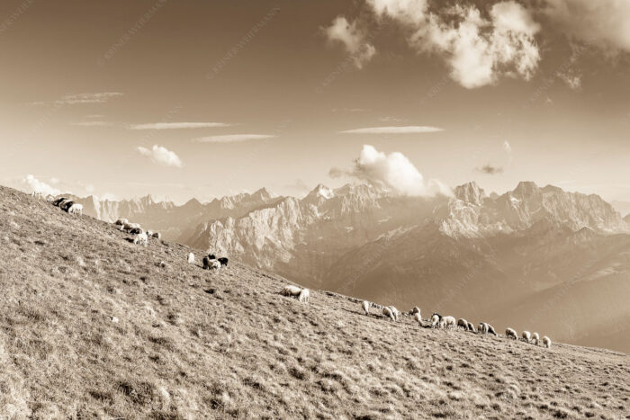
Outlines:
{"label": "hazy jagged rocky mountain range behind the sheep-dotted slope", "polygon": [[183,206],[79,201],[99,219],[125,217],[311,288],[518,329],[551,326],[568,343],[630,351],[630,220],[595,194],[531,182],[487,194],[466,183],[426,198],[347,184],[303,198],[261,189]]}

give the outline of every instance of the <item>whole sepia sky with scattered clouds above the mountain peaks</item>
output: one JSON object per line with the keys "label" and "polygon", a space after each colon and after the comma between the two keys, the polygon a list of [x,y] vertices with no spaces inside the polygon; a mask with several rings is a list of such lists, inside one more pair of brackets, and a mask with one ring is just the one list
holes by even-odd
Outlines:
{"label": "whole sepia sky with scattered clouds above the mountain peaks", "polygon": [[630,201],[628,52],[619,0],[5,0],[0,183]]}

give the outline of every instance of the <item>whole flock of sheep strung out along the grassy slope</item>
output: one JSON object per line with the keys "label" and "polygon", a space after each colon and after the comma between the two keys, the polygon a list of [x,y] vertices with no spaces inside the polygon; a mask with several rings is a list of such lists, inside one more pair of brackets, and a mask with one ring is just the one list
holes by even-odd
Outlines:
{"label": "whole flock of sheep strung out along the grassy slope", "polygon": [[[34,197],[40,198],[41,194],[33,192]],[[55,199],[52,196],[47,197],[47,201],[52,202],[54,206],[59,207],[61,210],[67,211],[69,214],[82,215],[83,214],[83,205],[76,203],[75,201],[68,200],[67,198],[61,197]],[[133,238],[133,243],[135,245],[140,246],[148,246],[148,238],[155,237],[159,239],[161,236],[159,232],[151,232],[150,230],[145,231],[140,228],[138,223],[130,223],[127,219],[118,219],[114,223],[116,226],[120,226],[120,230],[124,230],[129,232],[130,234],[136,235]],[[188,263],[194,264],[194,254],[188,254]],[[222,266],[228,265],[227,257],[216,258],[216,256],[210,254],[208,256],[203,257],[203,269],[204,270],[219,270]],[[300,302],[308,303],[309,297],[311,296],[311,291],[308,289],[304,289],[294,285],[287,285],[280,292],[283,296],[288,296],[292,298],[297,298]],[[380,308],[383,310],[383,315],[385,317],[390,318],[393,322],[398,321],[401,313],[399,310],[393,306],[383,307],[376,303],[371,303],[367,300],[361,302],[361,308],[365,315],[370,315],[370,308]],[[410,312],[405,313],[406,316],[412,316],[416,322],[419,323],[419,326],[425,326],[425,320],[422,319],[420,315],[420,308],[414,307]],[[463,329],[464,331],[470,331],[475,334],[491,334],[497,335],[494,327],[486,322],[480,322],[479,326],[475,328],[472,322],[467,321],[464,318],[460,318],[455,320],[455,317],[446,316],[442,317],[440,314],[434,313],[430,319],[428,319],[429,326],[432,328],[445,328],[445,329]],[[511,338],[513,340],[518,340],[517,331],[513,328],[507,328],[505,330],[506,338]],[[536,344],[540,345],[541,340],[538,333],[530,333],[529,331],[523,331],[521,334],[521,340],[527,342],[528,344]],[[542,344],[545,348],[551,347],[551,339],[548,336],[544,336],[542,340]]]}

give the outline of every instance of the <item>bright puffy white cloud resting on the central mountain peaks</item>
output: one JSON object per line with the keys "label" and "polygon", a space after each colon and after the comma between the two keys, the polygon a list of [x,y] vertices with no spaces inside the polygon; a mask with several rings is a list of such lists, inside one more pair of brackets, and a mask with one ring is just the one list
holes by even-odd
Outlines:
{"label": "bright puffy white cloud resting on the central mountain peaks", "polygon": [[403,195],[452,195],[445,184],[434,179],[425,180],[407,156],[400,152],[387,155],[369,145],[364,145],[350,170],[332,168],[329,172],[331,177],[343,175],[383,186]]}

